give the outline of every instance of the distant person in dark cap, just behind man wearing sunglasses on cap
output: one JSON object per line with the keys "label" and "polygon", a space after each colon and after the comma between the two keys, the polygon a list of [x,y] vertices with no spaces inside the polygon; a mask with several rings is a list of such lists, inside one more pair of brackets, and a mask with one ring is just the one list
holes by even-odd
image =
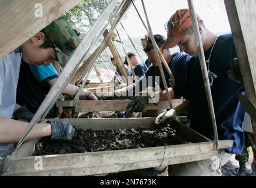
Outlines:
{"label": "distant person in dark cap, just behind man wearing sunglasses on cap", "polygon": [[[143,63],[139,63],[134,53],[127,53],[129,61],[131,62],[132,68],[134,69],[135,76],[141,78],[141,76],[145,75],[146,67]],[[125,59],[125,64],[127,64],[127,59]]]}

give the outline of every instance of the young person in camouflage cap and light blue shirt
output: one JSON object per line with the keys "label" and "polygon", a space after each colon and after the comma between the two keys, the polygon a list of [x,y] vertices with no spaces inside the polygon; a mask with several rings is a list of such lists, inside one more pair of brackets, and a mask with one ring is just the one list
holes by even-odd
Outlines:
{"label": "young person in camouflage cap and light blue shirt", "polygon": [[[65,66],[79,43],[75,31],[66,24],[64,19],[57,19],[19,48],[0,59],[0,157],[12,153],[14,143],[19,141],[28,126],[26,122],[11,119],[16,103],[21,58],[32,65],[47,66],[53,61],[59,61],[62,66]],[[59,51],[56,51],[57,48]],[[74,132],[74,128],[68,122],[38,123],[26,140],[39,139],[44,136],[70,140]]]}

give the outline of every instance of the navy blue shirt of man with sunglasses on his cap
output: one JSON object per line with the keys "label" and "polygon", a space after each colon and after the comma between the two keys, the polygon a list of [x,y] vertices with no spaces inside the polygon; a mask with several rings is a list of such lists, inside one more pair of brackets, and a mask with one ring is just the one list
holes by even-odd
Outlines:
{"label": "navy blue shirt of man with sunglasses on his cap", "polygon": [[[191,59],[191,56],[187,55],[187,53],[175,53],[172,57],[172,60],[168,63],[168,66],[175,78],[175,86],[173,87],[175,98],[181,98],[181,96],[183,96],[185,87],[185,74],[189,59]],[[169,83],[170,76],[167,72],[167,69],[165,66],[162,66],[162,68],[164,70],[165,80],[167,80],[167,86],[168,88],[171,88],[171,83]],[[159,79],[157,79],[157,76]],[[145,76],[140,78],[138,82],[135,82],[133,85],[128,86],[127,90],[130,91],[131,89],[136,88],[134,90],[141,91],[148,87],[155,88],[155,82],[157,80],[159,80],[160,89],[164,90],[164,82],[162,82],[159,67],[153,66],[151,64],[145,72]]]}

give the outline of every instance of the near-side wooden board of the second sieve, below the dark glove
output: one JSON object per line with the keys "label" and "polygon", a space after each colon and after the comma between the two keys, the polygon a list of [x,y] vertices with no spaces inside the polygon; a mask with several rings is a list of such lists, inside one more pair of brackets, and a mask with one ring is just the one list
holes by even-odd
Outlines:
{"label": "near-side wooden board of the second sieve, below the dark glove", "polygon": [[[58,101],[56,105],[58,107],[75,107],[76,110],[81,110],[79,112],[98,112],[98,111],[122,111],[127,110],[127,105],[132,102],[132,100],[79,100],[77,105],[74,106],[72,100],[68,101]],[[182,99],[172,100],[172,105],[174,108],[183,102]],[[157,109],[168,109],[169,103],[167,100],[160,101],[157,105],[153,103],[149,104],[145,110],[157,110]]]}

